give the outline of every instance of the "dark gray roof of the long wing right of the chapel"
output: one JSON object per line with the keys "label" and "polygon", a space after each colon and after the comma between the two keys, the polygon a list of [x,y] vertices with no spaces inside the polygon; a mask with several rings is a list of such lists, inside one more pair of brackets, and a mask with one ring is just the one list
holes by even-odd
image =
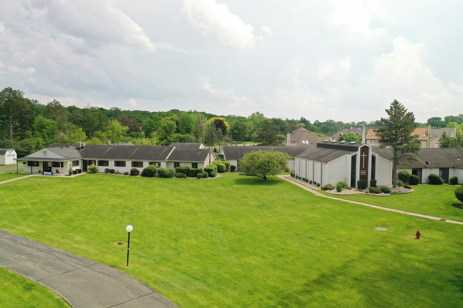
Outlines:
{"label": "dark gray roof of the long wing right of the chapel", "polygon": [[[375,148],[372,151],[383,158],[392,160],[392,149]],[[398,168],[463,168],[463,148],[421,149],[413,156],[418,158],[419,161],[405,159],[399,163]],[[458,157],[460,160],[457,159]],[[426,162],[431,163],[426,165]]]}

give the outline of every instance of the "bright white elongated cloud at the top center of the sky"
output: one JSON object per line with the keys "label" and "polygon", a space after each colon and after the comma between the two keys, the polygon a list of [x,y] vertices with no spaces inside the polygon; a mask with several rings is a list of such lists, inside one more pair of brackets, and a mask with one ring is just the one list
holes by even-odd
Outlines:
{"label": "bright white elongated cloud at the top center of the sky", "polygon": [[218,4],[215,0],[183,0],[183,12],[194,28],[205,36],[216,36],[223,45],[241,49],[256,45],[252,26],[232,14],[225,3]]}

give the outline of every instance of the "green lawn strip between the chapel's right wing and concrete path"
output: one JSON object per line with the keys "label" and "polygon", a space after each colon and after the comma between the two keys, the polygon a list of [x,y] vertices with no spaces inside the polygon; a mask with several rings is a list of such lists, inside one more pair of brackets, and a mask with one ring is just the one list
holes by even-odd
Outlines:
{"label": "green lawn strip between the chapel's right wing and concrete path", "polygon": [[460,207],[462,203],[455,197],[455,189],[457,189],[457,187],[459,187],[459,185],[414,185],[412,186],[415,190],[413,193],[393,193],[390,197],[377,197],[360,193],[340,196],[325,193],[322,190],[320,190],[320,192],[341,199],[463,221],[463,209]]}

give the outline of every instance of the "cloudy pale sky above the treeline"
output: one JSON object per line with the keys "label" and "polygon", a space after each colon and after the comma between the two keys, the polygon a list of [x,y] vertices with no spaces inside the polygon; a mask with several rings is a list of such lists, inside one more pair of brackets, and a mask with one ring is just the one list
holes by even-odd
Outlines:
{"label": "cloudy pale sky above the treeline", "polygon": [[46,104],[375,121],[463,112],[462,1],[2,0],[0,88]]}

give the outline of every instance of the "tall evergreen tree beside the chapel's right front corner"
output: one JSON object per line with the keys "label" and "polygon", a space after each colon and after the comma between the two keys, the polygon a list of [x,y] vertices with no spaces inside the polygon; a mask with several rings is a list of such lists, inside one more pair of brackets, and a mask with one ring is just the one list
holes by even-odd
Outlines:
{"label": "tall evergreen tree beside the chapel's right front corner", "polygon": [[404,105],[394,99],[389,109],[386,109],[388,118],[378,121],[379,128],[376,136],[379,137],[380,148],[391,147],[394,151],[392,159],[393,187],[397,187],[397,165],[404,159],[416,160],[413,153],[420,150],[418,135],[413,135],[416,128],[413,112],[407,112]]}

